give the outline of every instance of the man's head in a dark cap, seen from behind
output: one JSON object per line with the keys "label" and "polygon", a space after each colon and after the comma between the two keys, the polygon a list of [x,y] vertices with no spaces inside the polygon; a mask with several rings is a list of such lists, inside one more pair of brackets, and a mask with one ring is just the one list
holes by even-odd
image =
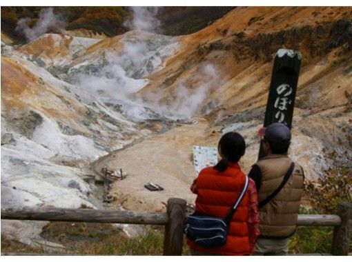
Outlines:
{"label": "man's head in a dark cap, seen from behind", "polygon": [[263,132],[266,154],[287,154],[291,143],[291,130],[284,123],[272,123]]}

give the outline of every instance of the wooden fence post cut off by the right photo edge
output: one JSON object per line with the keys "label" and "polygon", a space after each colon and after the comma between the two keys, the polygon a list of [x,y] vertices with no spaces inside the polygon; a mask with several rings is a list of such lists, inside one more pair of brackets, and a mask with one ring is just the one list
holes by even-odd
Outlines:
{"label": "wooden fence post cut off by the right photo edge", "polygon": [[352,237],[352,203],[340,203],[338,215],[341,218],[341,225],[333,230],[331,253],[334,256],[347,256]]}

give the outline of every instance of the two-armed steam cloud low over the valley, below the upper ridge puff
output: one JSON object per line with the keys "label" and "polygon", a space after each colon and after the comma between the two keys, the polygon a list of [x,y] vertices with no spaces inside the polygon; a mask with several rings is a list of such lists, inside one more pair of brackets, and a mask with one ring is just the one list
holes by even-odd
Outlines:
{"label": "two-armed steam cloud low over the valley, below the upper ridge puff", "polygon": [[121,112],[137,121],[165,117],[189,119],[198,110],[220,79],[215,66],[210,63],[199,65],[192,83],[180,81],[170,94],[165,90],[149,93],[144,98],[136,94],[148,81],[141,75],[146,71],[150,59],[143,43],[125,43],[121,56],[107,54],[108,64],[98,75],[80,74],[77,78],[81,89],[94,92],[104,103],[121,105]]}

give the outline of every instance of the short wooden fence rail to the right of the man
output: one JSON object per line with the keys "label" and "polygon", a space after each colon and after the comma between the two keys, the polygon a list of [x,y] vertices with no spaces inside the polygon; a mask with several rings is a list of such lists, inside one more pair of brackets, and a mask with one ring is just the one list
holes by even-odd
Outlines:
{"label": "short wooden fence rail to the right of the man", "polygon": [[341,225],[337,214],[299,214],[297,225]]}

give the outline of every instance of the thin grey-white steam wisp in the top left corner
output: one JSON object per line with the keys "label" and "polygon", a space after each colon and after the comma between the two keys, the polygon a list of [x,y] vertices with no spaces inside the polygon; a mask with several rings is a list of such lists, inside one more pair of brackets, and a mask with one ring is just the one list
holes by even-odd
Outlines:
{"label": "thin grey-white steam wisp in the top left corner", "polygon": [[19,19],[15,28],[17,32],[23,32],[28,41],[37,39],[41,34],[45,34],[49,30],[57,31],[64,27],[63,19],[59,15],[54,14],[53,8],[41,9],[39,19],[32,28],[28,26],[29,21],[29,17]]}

